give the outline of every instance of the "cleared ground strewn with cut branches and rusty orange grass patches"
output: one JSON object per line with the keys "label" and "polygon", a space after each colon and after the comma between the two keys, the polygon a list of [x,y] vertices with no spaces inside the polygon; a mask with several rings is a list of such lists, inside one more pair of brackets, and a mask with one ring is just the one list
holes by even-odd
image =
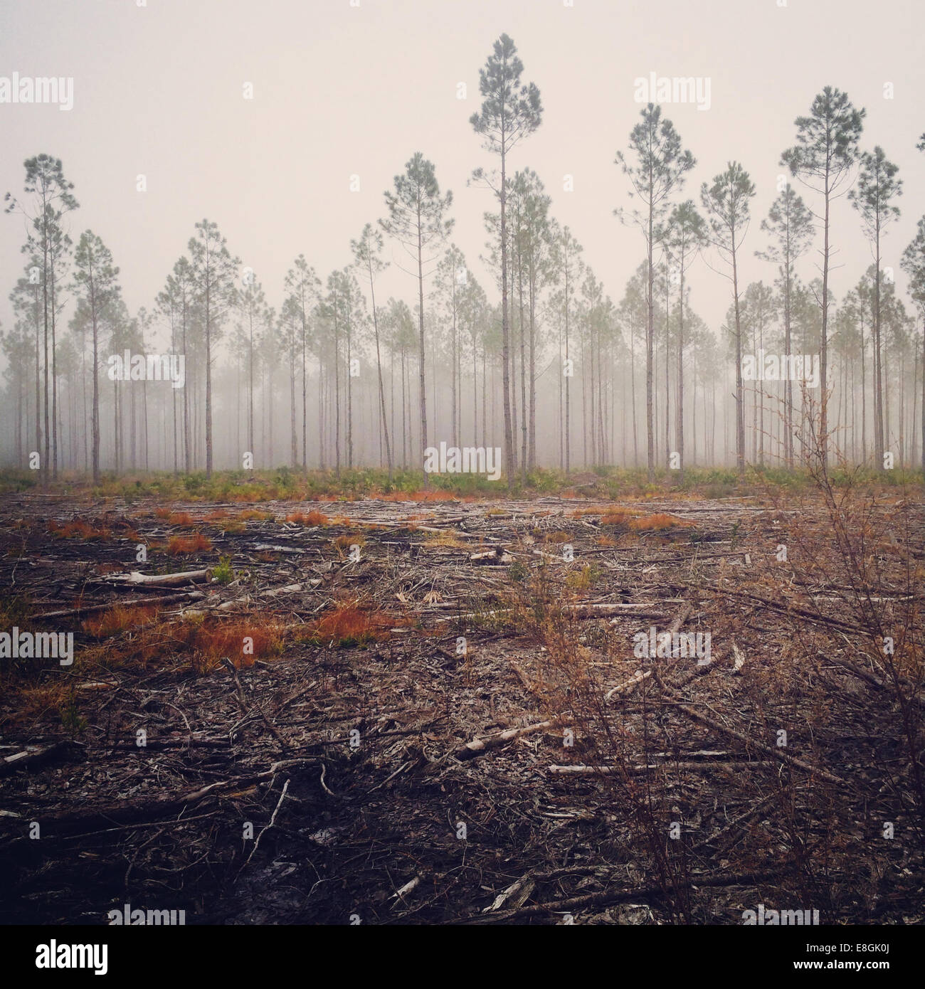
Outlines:
{"label": "cleared ground strewn with cut branches and rusty orange grass patches", "polygon": [[0,659],[0,923],[922,923],[923,561],[920,490],[0,496],[74,636]]}

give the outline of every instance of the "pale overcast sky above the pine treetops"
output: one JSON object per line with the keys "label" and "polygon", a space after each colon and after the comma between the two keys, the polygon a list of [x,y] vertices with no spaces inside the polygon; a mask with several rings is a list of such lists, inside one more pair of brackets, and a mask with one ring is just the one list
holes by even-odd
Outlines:
{"label": "pale overcast sky above the pine treetops", "polygon": [[[356,0],[354,0],[356,2]],[[683,198],[730,158],[758,189],[744,245],[745,282],[773,278],[754,258],[759,228],[782,172],[793,121],[826,84],[867,108],[863,146],[881,144],[905,180],[902,217],[884,241],[899,255],[925,213],[925,5],[921,0],[3,0],[0,77],[73,78],[73,109],[0,104],[0,193],[20,194],[22,163],[47,152],[63,161],[87,227],[113,251],[125,298],[152,306],[193,225],[208,217],[279,307],[283,278],[305,253],[322,276],[350,260],[349,241],[383,216],[383,191],[420,150],[454,194],[453,239],[494,300],[478,260],[490,194],[466,188],[473,168],[493,167],[468,123],[480,104],[478,71],[507,32],[544,107],[539,131],[512,153],[535,169],[552,212],[572,227],[585,259],[618,302],[643,256],[638,231],[613,208],[628,183],[613,163],[637,122],[634,79],[709,79],[710,106],[669,104],[666,115],[697,159]],[[243,86],[253,86],[253,99]],[[466,83],[467,98],[457,99]],[[891,83],[893,98],[884,99]],[[147,191],[136,191],[137,176]],[[350,192],[350,176],[360,191]],[[563,177],[574,176],[574,192]],[[797,188],[807,204],[811,193]],[[834,291],[840,299],[871,263],[859,218],[834,209]],[[0,216],[0,319],[20,275],[21,218]],[[387,253],[391,252],[391,246]],[[814,274],[804,259],[801,274]],[[702,262],[692,273],[694,310],[715,329],[729,287]],[[382,286],[414,301],[394,268]],[[68,316],[70,313],[68,312]]]}

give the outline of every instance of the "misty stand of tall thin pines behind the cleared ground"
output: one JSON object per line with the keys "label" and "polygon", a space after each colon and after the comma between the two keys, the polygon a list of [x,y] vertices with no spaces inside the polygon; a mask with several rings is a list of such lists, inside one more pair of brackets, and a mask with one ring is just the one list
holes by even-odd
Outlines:
{"label": "misty stand of tall thin pines behind the cleared ground", "polygon": [[[778,162],[777,199],[750,230],[748,171],[717,162],[687,198],[694,155],[648,104],[614,157],[629,205],[613,211],[613,236],[638,244],[640,264],[611,298],[528,166],[543,108],[522,73],[503,35],[480,71],[474,133],[460,135],[474,165],[481,138],[470,183],[485,193],[481,259],[494,285],[453,243],[452,193],[417,151],[381,218],[353,231],[347,267],[319,273],[300,255],[270,288],[202,220],[132,314],[117,266],[130,259],[91,229],[72,232],[81,214],[61,161],[30,158],[23,193],[6,197],[27,239],[0,338],[0,463],[45,484],[64,471],[282,465],[391,475],[422,471],[424,448],[444,442],[501,447],[509,484],[542,467],[683,478],[694,465],[797,468],[814,418],[824,462],[925,463],[925,218],[901,254],[884,253],[902,181],[879,146],[864,146],[863,109],[833,87],[811,99]],[[855,223],[833,228],[831,202],[845,195]],[[831,259],[857,237],[874,264],[837,299]],[[377,295],[387,243],[408,275],[405,299]],[[768,262],[766,279],[741,284],[746,251]],[[709,326],[692,289],[717,277],[729,308]],[[817,380],[781,373],[796,355]]]}

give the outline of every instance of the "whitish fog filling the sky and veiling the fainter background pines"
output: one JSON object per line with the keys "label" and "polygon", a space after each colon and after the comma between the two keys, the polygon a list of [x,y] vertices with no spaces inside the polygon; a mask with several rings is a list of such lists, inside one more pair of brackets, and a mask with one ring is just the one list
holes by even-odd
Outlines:
{"label": "whitish fog filling the sky and veiling the fainter background pines", "polygon": [[[0,39],[0,191],[15,198],[0,224],[4,297],[27,284],[0,305],[0,459],[92,470],[95,319],[103,471],[385,467],[390,451],[396,467],[420,469],[424,447],[441,442],[503,448],[509,473],[787,463],[809,442],[823,396],[833,451],[919,462],[921,276],[903,252],[925,213],[922,21],[919,7],[896,2],[873,26],[868,5],[834,2],[747,12],[670,2],[657,13],[591,0],[13,4]],[[670,38],[658,33],[666,23]],[[513,186],[506,204],[506,307],[500,160],[470,123],[503,34],[522,59],[520,84],[535,84],[541,101],[538,123],[507,153],[509,182],[532,178],[521,214]],[[60,92],[46,85],[45,103],[41,85],[22,88],[49,78]],[[825,86],[866,111],[830,203],[827,264],[818,184],[782,162],[795,119]],[[738,319],[714,232],[687,257],[684,293],[677,255],[654,245],[650,317],[644,226],[614,216],[643,209],[614,159],[637,161],[630,132],[649,100],[695,159],[657,219],[691,200],[708,224],[701,186],[730,162],[754,185],[736,243]],[[882,226],[879,278],[848,195],[875,147],[903,183],[881,204],[901,212]],[[452,193],[419,259],[414,238],[389,229],[385,196],[418,152],[438,196]],[[40,154],[61,161],[79,206],[55,221],[70,243],[40,251],[36,275],[35,244],[22,253],[38,216],[23,162]],[[489,182],[473,179],[479,168]],[[756,256],[773,247],[761,225],[786,183],[814,216],[789,287],[780,264]],[[537,202],[541,215],[530,212]],[[203,218],[230,254],[208,317],[195,273],[188,298],[175,286],[165,294]],[[365,225],[383,236],[381,250],[368,241],[384,266],[372,285],[351,250]],[[88,229],[119,269],[95,316],[75,251]],[[823,349],[825,381],[813,383]],[[152,368],[148,357],[165,355],[174,374],[182,358],[183,386],[113,380],[110,359],[126,350]],[[807,374],[794,375],[788,411],[782,358],[789,366],[797,354]],[[750,380],[743,358],[754,370],[766,356],[771,373]]]}

